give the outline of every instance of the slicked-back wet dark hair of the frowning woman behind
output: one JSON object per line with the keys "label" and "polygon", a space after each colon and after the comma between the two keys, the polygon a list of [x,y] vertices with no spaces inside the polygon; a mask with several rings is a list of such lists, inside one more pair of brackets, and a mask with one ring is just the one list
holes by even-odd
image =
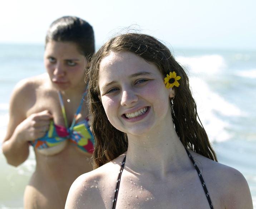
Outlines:
{"label": "slicked-back wet dark hair of the frowning woman behind", "polygon": [[64,16],[51,23],[45,37],[45,46],[51,40],[73,42],[87,58],[95,52],[93,28],[79,17]]}

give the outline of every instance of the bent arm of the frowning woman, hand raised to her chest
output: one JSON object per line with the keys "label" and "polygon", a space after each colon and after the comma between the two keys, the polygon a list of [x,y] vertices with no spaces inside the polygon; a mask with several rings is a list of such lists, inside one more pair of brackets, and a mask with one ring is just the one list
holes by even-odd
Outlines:
{"label": "bent arm of the frowning woman, hand raised to her chest", "polygon": [[11,95],[9,123],[2,149],[7,162],[13,166],[18,166],[28,158],[29,141],[43,136],[41,130],[47,126],[47,122],[43,122],[46,125],[41,126],[38,120],[35,120],[37,114],[26,118],[30,103],[35,100],[33,92],[34,85],[26,80],[20,82]]}

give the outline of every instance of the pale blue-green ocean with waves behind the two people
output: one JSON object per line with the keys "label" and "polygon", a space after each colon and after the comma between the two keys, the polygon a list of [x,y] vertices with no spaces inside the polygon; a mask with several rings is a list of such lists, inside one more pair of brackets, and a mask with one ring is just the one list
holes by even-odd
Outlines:
{"label": "pale blue-green ocean with waves behind the two people", "polygon": [[[256,51],[171,51],[187,70],[198,114],[218,161],[245,176],[256,207]],[[0,44],[1,141],[11,92],[19,80],[45,72],[43,53],[43,45]],[[8,165],[0,151],[0,167],[0,208],[23,208],[24,189],[35,168],[32,148],[28,160],[17,168]]]}

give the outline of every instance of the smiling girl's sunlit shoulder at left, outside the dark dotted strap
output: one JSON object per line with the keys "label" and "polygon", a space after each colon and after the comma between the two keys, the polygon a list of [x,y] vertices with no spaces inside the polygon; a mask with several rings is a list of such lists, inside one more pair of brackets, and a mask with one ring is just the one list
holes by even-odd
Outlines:
{"label": "smiling girl's sunlit shoulder at left, outside the dark dotted strap", "polygon": [[121,159],[123,157],[118,157],[79,176],[70,187],[65,209],[110,208]]}

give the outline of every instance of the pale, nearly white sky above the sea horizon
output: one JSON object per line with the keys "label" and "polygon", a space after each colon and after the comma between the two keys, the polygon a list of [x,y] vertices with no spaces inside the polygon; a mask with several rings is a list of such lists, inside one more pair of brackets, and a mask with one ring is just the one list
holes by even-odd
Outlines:
{"label": "pale, nearly white sky above the sea horizon", "polygon": [[0,43],[44,43],[50,23],[87,20],[101,46],[120,29],[140,28],[173,47],[256,49],[255,0],[8,0],[0,8]]}

